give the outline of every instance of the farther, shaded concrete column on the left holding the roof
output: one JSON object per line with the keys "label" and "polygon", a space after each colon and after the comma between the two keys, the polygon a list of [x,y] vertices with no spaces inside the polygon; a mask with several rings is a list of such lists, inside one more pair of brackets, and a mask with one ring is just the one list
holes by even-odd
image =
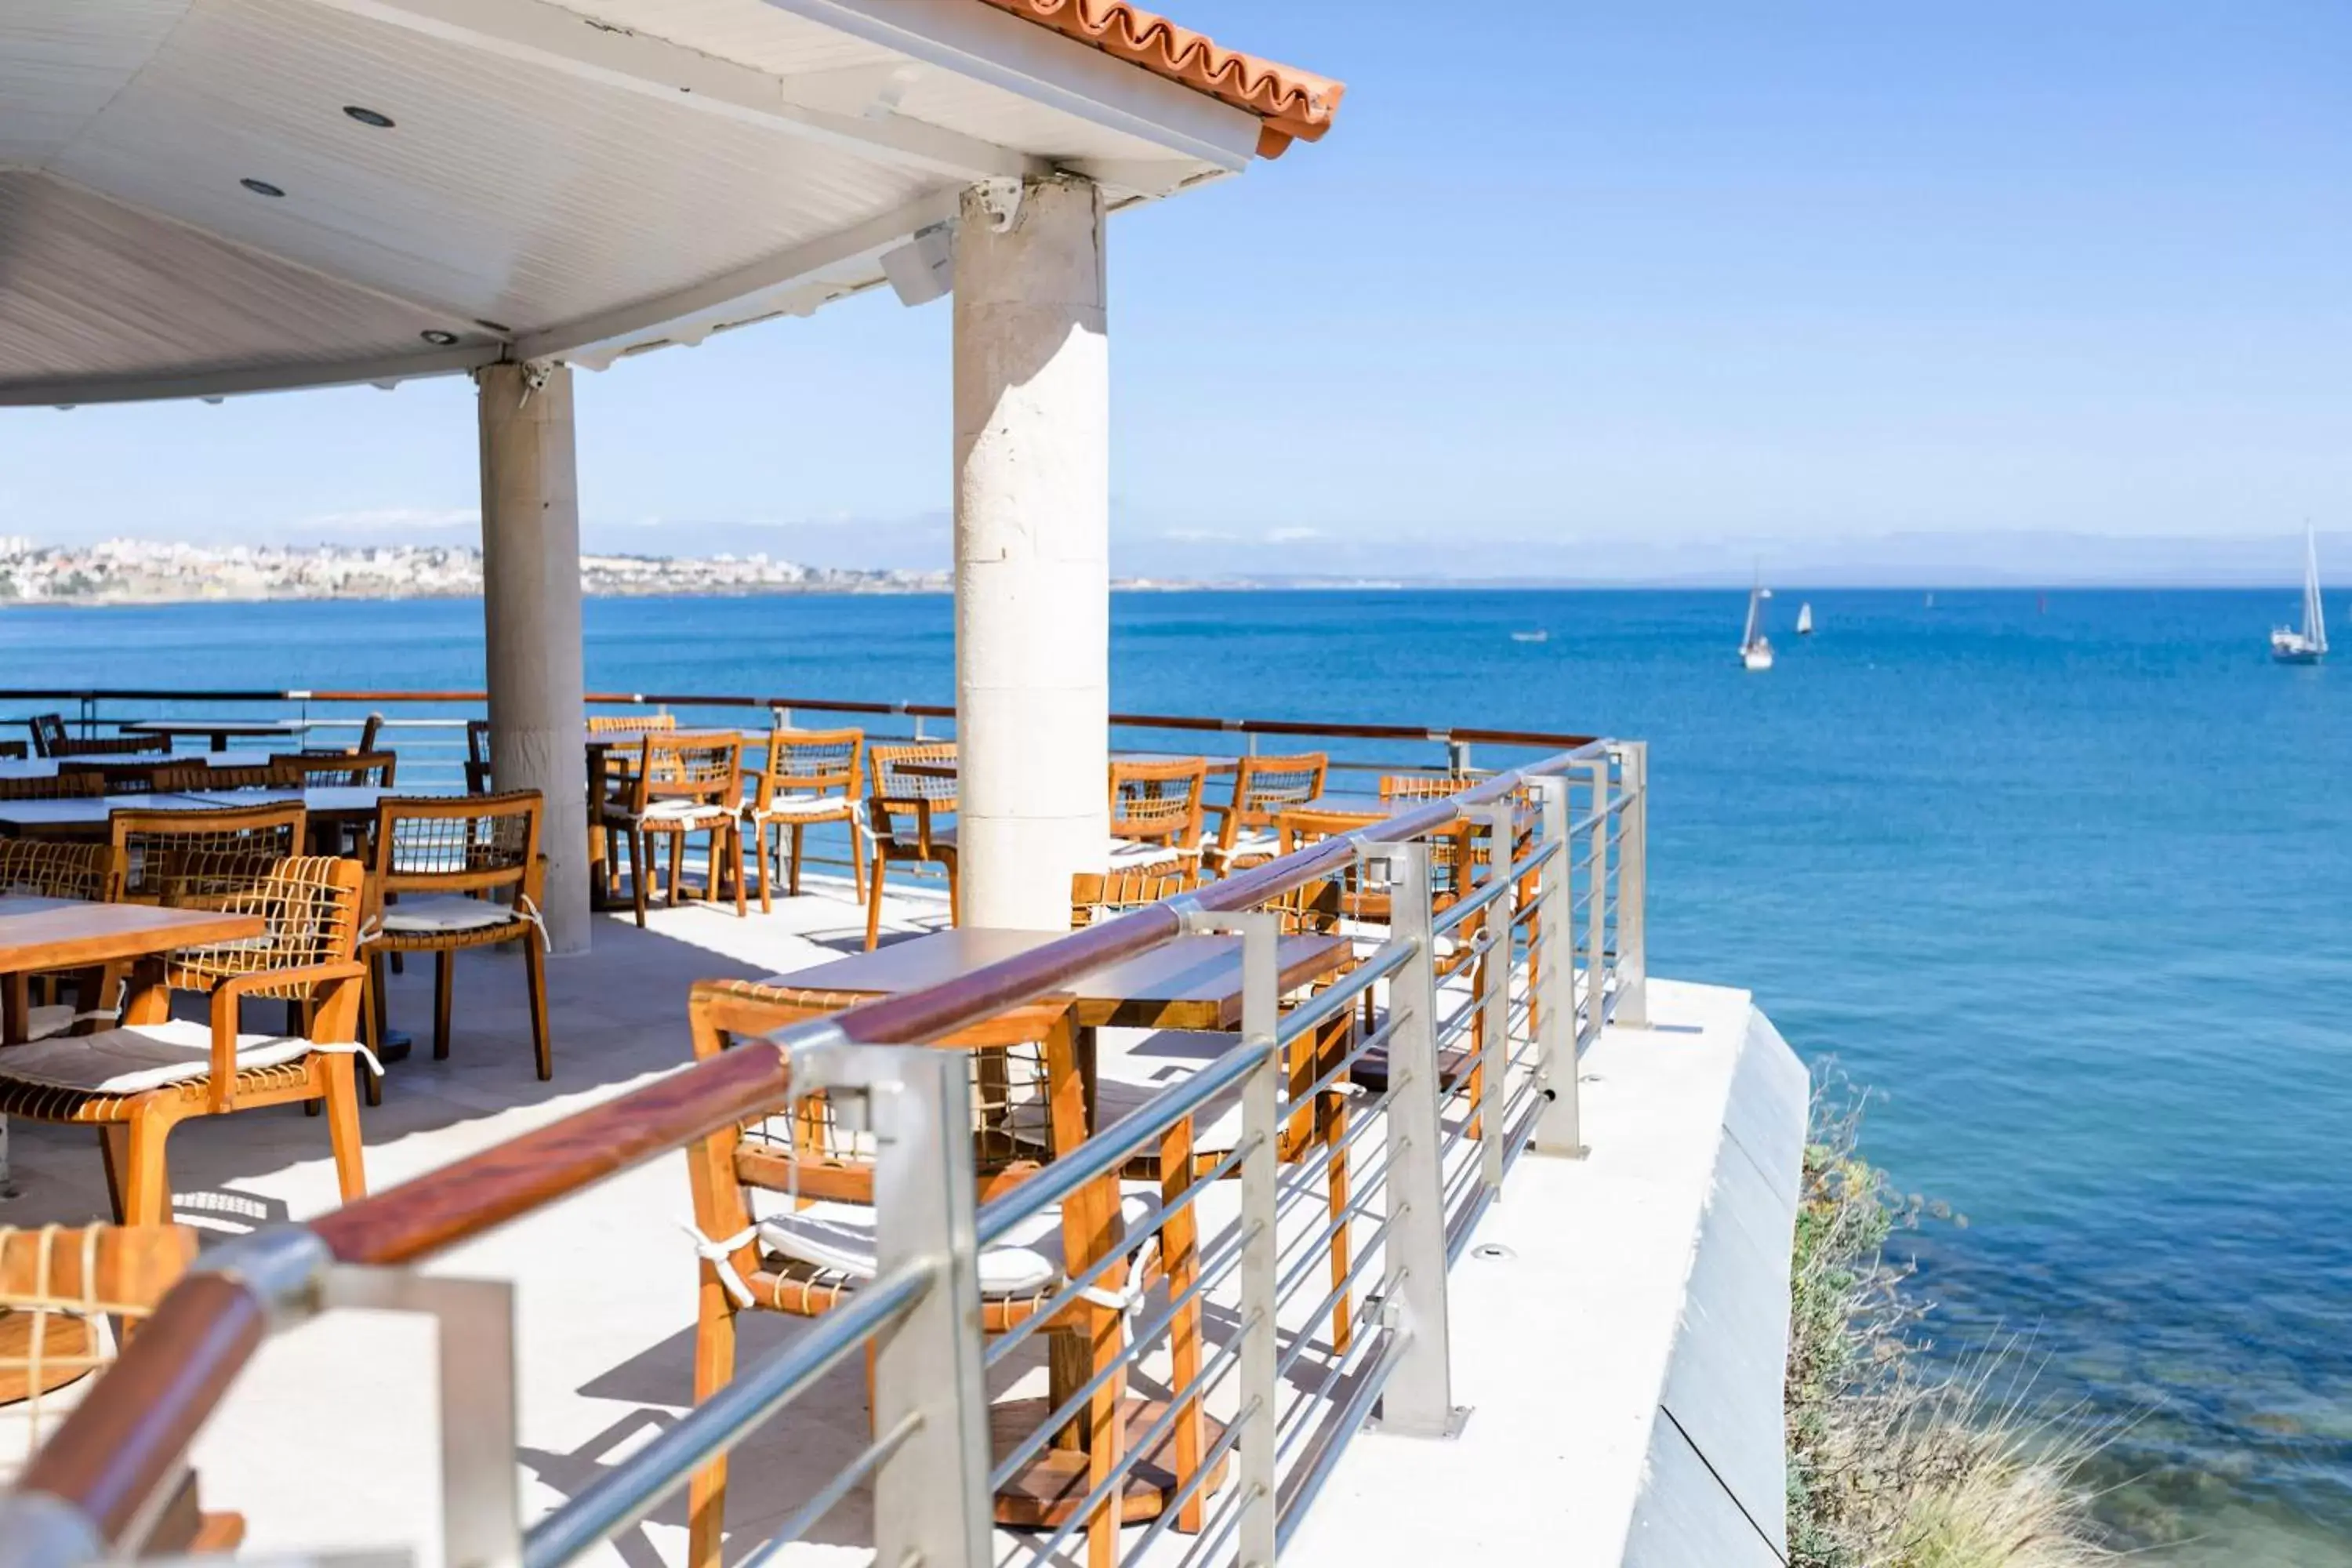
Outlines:
{"label": "farther, shaded concrete column on the left holding the roof", "polygon": [[482,418],[482,623],[489,646],[489,778],[539,790],[548,940],[588,952],[588,759],[581,750],[581,505],[572,369],[489,364]]}

